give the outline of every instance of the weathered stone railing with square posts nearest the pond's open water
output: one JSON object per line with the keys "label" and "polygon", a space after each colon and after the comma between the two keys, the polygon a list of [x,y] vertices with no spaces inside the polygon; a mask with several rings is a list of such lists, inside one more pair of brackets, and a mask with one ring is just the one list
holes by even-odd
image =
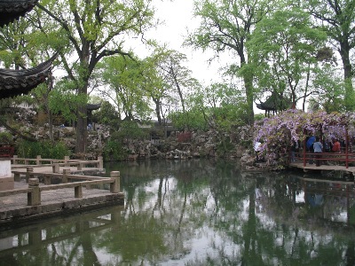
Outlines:
{"label": "weathered stone railing with square posts nearest the pond's open water", "polygon": [[[21,175],[26,175],[28,188],[14,189],[0,192],[0,197],[12,196],[21,193],[28,194],[28,206],[41,205],[41,192],[59,190],[64,188],[74,188],[75,198],[83,198],[83,186],[91,186],[92,184],[110,184],[110,192],[120,192],[120,172],[112,171],[110,177],[99,176],[80,176],[70,175],[70,169],[64,169],[63,174],[58,173],[34,173],[32,167],[27,168],[27,172],[12,171],[15,181],[20,179]],[[45,186],[39,186],[39,178],[42,176]],[[61,178],[62,184],[51,184],[51,178]],[[68,181],[84,180],[81,182]]]}

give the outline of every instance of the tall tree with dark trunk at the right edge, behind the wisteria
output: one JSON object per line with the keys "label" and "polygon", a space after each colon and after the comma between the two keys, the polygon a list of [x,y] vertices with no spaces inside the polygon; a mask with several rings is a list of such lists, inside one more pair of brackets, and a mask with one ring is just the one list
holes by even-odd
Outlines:
{"label": "tall tree with dark trunk at the right edge, behind the wisteria", "polygon": [[355,93],[351,78],[351,51],[355,47],[355,0],[310,0],[304,1],[306,8],[319,22],[335,44],[343,62],[345,82],[345,106],[348,111],[355,109]]}

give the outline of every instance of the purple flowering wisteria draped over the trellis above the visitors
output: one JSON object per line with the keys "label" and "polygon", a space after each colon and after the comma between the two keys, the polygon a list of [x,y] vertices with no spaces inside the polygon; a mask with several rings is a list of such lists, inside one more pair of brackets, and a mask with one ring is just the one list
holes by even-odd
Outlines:
{"label": "purple flowering wisteria draped over the trellis above the visitors", "polygon": [[346,138],[346,129],[349,136],[355,136],[354,113],[304,113],[300,110],[290,109],[278,116],[256,121],[254,125],[255,142],[261,143],[259,149],[269,162],[278,160],[275,154],[284,153],[294,142],[303,143],[305,137],[311,134],[330,140],[331,137]]}

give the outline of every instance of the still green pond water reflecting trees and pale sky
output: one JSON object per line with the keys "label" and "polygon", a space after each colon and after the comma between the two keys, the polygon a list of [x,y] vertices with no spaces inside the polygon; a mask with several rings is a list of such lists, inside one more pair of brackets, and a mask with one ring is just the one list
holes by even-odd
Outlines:
{"label": "still green pond water reflecting trees and pale sky", "polygon": [[211,160],[112,170],[124,206],[0,231],[0,265],[355,265],[353,183]]}

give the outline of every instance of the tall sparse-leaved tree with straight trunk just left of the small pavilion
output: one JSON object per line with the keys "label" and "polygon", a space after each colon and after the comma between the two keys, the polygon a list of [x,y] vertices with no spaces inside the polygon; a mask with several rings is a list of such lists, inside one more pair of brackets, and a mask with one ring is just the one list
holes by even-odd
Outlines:
{"label": "tall sparse-leaved tree with straight trunk just left of the small pavilion", "polygon": [[[216,53],[233,51],[240,66],[248,64],[245,43],[256,24],[272,7],[271,1],[264,0],[197,0],[194,15],[201,17],[201,25],[186,40],[187,45]],[[254,121],[253,76],[250,72],[241,74],[247,98],[248,117]]]}

